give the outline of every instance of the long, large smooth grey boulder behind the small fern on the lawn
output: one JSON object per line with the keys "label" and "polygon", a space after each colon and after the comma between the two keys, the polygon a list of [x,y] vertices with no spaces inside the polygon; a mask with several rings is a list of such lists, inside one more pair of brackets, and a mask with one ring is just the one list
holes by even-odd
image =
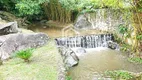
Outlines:
{"label": "long, large smooth grey boulder behind the small fern on the lawn", "polygon": [[37,48],[47,44],[48,36],[43,33],[18,33],[0,36],[0,55],[8,59],[12,53],[27,48]]}

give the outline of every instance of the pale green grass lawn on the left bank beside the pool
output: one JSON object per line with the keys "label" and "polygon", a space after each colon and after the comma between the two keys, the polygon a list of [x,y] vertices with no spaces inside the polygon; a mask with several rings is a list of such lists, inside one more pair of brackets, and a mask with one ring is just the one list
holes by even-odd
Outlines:
{"label": "pale green grass lawn on the left bank beside the pool", "polygon": [[33,52],[30,63],[20,58],[5,61],[0,66],[0,80],[57,80],[57,48],[53,41]]}

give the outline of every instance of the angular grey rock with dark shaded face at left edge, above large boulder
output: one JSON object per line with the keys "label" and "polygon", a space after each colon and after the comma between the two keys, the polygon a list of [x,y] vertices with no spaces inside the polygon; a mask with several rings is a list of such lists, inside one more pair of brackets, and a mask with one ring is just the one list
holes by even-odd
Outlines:
{"label": "angular grey rock with dark shaded face at left edge, above large boulder", "polygon": [[18,32],[17,22],[0,24],[0,35],[6,35],[10,33],[17,33],[17,32]]}

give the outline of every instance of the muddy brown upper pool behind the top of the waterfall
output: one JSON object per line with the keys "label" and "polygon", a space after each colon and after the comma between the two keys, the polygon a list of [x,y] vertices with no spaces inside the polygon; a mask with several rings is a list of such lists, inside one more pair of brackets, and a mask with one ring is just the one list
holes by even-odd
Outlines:
{"label": "muddy brown upper pool behind the top of the waterfall", "polygon": [[[50,38],[58,38],[58,37],[62,37],[62,29],[64,29],[68,25],[70,24],[64,24],[63,27],[60,27],[60,26],[59,27],[48,27],[48,26],[44,26],[44,24],[33,23],[29,25],[29,29],[34,32],[46,33]],[[81,30],[77,32],[79,33],[79,35],[107,33],[107,32],[102,32],[98,30]],[[65,31],[65,35],[66,36],[76,36],[77,34],[73,30],[70,29],[70,30]]]}

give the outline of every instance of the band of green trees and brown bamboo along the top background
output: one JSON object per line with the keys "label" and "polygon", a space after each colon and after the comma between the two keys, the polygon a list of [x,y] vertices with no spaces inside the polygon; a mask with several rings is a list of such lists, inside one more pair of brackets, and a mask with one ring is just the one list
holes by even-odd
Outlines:
{"label": "band of green trees and brown bamboo along the top background", "polygon": [[[129,1],[128,1],[129,2]],[[71,22],[78,13],[94,11],[96,8],[127,8],[123,0],[4,0],[0,9],[17,16],[38,18],[43,14],[49,20]]]}

